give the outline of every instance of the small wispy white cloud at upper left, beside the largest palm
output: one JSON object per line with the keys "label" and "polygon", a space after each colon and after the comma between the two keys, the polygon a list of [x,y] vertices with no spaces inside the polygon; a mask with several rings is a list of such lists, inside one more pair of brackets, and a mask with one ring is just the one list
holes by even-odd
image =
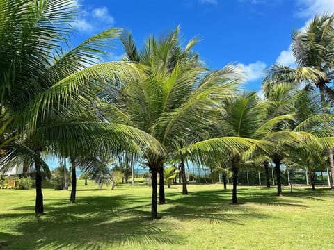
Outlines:
{"label": "small wispy white cloud at upper left, beside the largest palm", "polygon": [[[81,6],[83,8],[83,6]],[[115,19],[109,14],[108,8],[101,6],[93,9],[83,9],[80,11],[79,17],[75,20],[74,28],[79,33],[96,33],[106,28],[111,28],[115,23]]]}

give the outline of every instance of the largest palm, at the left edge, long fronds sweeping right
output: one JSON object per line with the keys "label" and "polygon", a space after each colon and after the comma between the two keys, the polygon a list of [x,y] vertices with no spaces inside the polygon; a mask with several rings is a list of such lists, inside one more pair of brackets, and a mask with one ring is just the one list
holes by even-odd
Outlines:
{"label": "largest palm, at the left edge, long fronds sweeping right", "polygon": [[[97,90],[129,80],[139,69],[131,63],[93,65],[119,29],[104,31],[63,52],[69,41],[76,1],[0,1],[1,149],[3,163],[30,158],[36,170],[37,215],[43,213],[44,151],[62,156],[102,149],[138,152],[152,138],[138,129],[105,122],[96,112]],[[92,66],[90,66],[92,65]],[[90,66],[90,67],[88,67]],[[123,147],[121,147],[123,146]],[[156,151],[159,144],[154,144]]]}

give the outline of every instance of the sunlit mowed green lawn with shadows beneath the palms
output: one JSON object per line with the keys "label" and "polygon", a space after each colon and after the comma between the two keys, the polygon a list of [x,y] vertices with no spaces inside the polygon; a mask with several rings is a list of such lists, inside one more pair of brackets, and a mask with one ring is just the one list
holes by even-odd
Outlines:
{"label": "sunlit mowed green lawn with shadows beneath the palms", "polygon": [[[137,182],[138,183],[138,182]],[[0,190],[2,249],[334,249],[334,194],[328,188],[181,185],[166,188],[161,219],[150,220],[144,183],[99,190],[79,181],[69,191],[43,190],[45,215],[35,217],[35,190]]]}

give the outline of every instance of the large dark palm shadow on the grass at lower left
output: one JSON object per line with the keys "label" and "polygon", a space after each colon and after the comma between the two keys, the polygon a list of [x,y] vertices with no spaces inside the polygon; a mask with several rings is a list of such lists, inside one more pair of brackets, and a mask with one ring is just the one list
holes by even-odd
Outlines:
{"label": "large dark palm shadow on the grass at lower left", "polygon": [[[77,204],[54,203],[41,217],[21,214],[26,218],[11,228],[20,236],[5,235],[3,242],[8,249],[100,249],[182,242],[182,236],[173,233],[168,223],[152,222],[148,209],[147,201],[131,195],[81,197]],[[17,219],[17,215],[6,215],[11,216]]]}

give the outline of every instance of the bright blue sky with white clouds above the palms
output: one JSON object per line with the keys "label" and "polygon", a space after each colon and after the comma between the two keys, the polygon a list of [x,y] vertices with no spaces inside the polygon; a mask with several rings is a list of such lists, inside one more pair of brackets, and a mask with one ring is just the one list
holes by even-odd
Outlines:
{"label": "bright blue sky with white clouds above the palms", "polygon": [[[78,0],[73,43],[106,28],[132,31],[139,46],[148,35],[163,35],[180,24],[184,41],[200,38],[194,48],[210,69],[239,64],[245,88],[259,90],[263,72],[275,62],[294,65],[292,31],[315,14],[334,12],[334,0]],[[110,51],[122,58],[122,47]]]}

